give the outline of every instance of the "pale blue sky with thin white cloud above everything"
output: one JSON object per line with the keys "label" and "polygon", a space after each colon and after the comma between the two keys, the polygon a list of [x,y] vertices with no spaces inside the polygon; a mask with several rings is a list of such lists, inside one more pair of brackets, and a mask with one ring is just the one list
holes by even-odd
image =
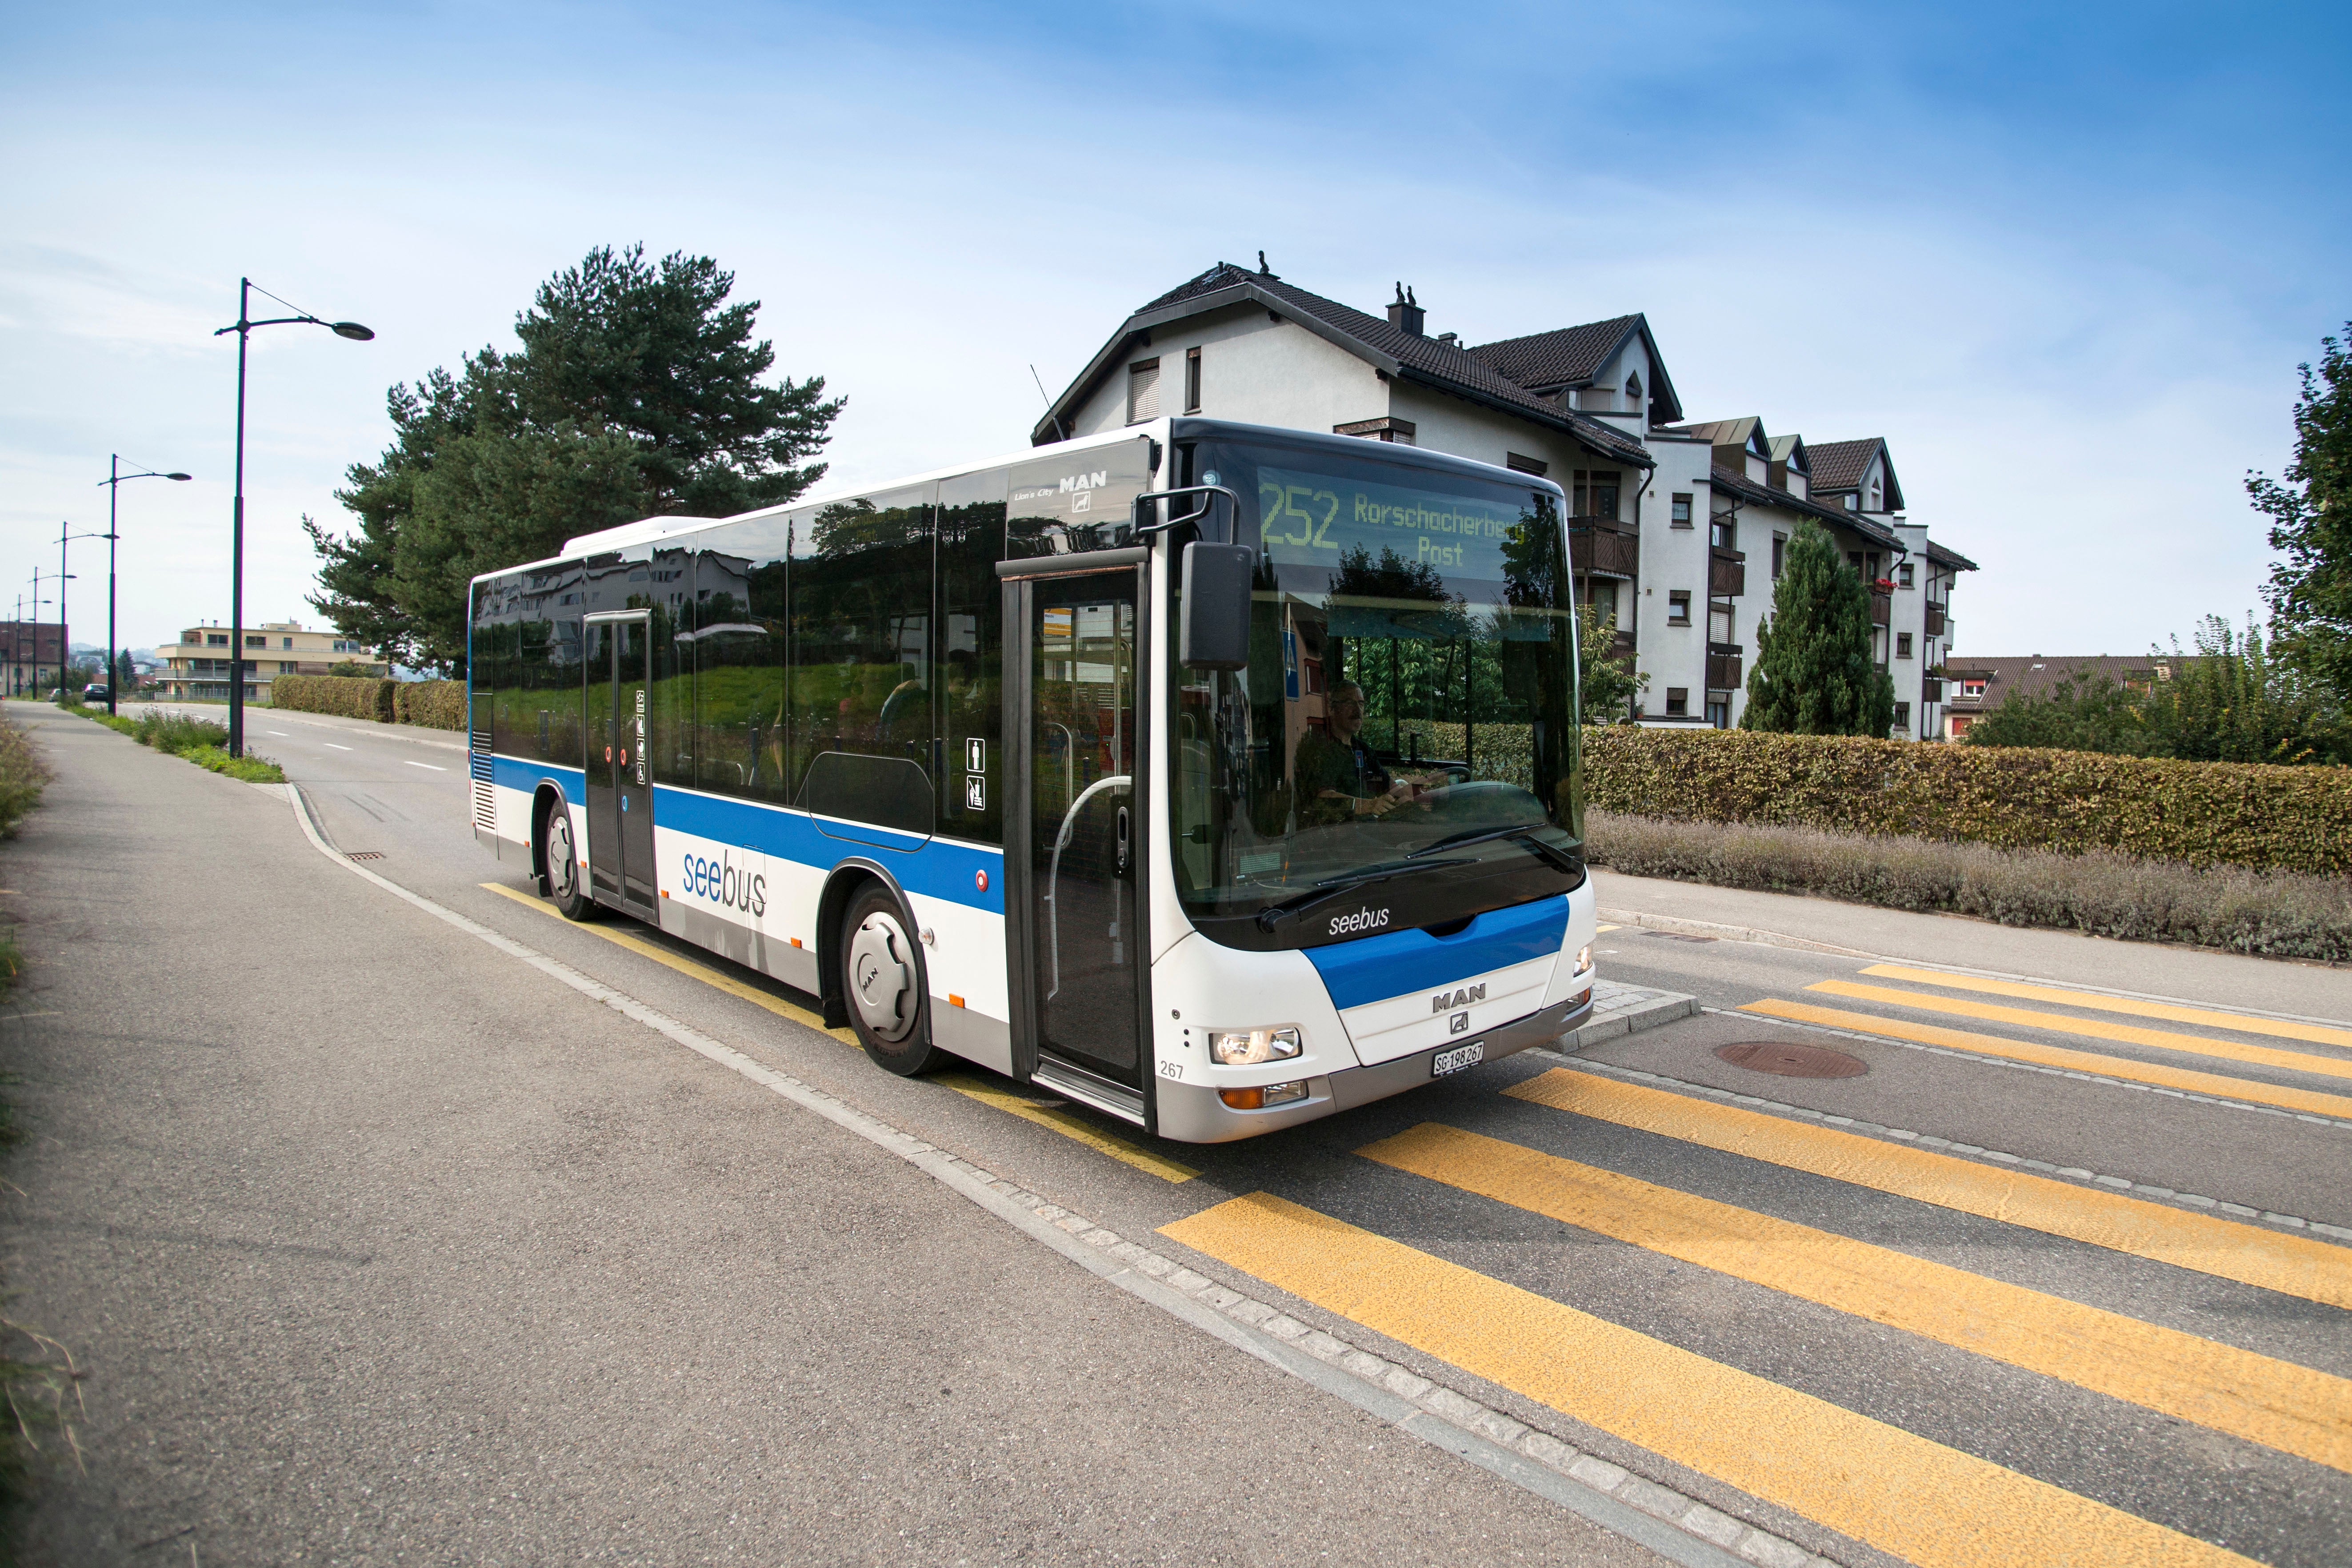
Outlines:
{"label": "pale blue sky with thin white cloud above everything", "polygon": [[1644,310],[1693,418],[1889,437],[1983,567],[1957,649],[2136,651],[2258,604],[2241,477],[2352,317],[2347,78],[2317,5],[12,0],[5,576],[103,529],[122,451],[198,475],[122,491],[125,639],[226,618],[240,273],[379,331],[254,341],[247,616],[315,621],[299,520],[383,388],[593,244],[734,268],[849,395],[851,480],[1018,447],[1030,364],[1263,247],[1470,341]]}

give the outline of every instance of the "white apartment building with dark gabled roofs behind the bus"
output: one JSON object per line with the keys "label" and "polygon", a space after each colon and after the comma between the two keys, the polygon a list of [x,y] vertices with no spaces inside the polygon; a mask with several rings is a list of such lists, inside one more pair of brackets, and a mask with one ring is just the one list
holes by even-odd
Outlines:
{"label": "white apartment building with dark gabled roofs behind the bus", "polygon": [[1976,564],[1915,524],[1884,440],[1806,444],[1757,416],[1686,421],[1646,315],[1496,343],[1430,334],[1411,289],[1383,315],[1218,263],[1129,315],[1030,430],[1037,444],[1204,414],[1435,447],[1569,496],[1576,595],[1649,677],[1642,724],[1733,726],[1755,628],[1802,520],[1872,590],[1898,738],[1940,741],[1952,585]]}

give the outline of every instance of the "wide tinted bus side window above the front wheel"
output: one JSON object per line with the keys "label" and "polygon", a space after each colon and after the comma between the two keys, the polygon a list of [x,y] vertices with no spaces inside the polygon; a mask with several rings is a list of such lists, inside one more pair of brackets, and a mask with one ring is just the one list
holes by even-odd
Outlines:
{"label": "wide tinted bus side window above the front wheel", "polygon": [[931,496],[818,508],[793,541],[793,802],[931,832]]}

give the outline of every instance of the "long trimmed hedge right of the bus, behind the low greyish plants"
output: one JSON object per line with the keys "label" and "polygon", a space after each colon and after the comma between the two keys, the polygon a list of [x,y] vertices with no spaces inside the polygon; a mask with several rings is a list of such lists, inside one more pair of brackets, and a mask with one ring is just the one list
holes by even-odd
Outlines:
{"label": "long trimmed hedge right of the bus, behind the low greyish plants", "polygon": [[2352,769],[1740,729],[1585,729],[1602,811],[2352,875]]}

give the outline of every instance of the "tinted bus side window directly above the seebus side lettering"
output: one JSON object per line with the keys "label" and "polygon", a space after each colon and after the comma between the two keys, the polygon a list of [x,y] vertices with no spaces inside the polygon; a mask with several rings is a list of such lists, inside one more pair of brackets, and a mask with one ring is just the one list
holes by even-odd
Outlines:
{"label": "tinted bus side window directly above the seebus side lettering", "polygon": [[713,529],[694,562],[694,741],[701,788],[790,799],[783,773],[783,517]]}

